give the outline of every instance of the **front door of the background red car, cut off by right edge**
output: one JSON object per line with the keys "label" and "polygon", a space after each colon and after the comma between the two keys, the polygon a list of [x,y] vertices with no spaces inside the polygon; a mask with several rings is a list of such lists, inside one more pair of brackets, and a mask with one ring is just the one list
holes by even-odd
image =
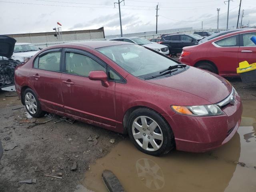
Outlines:
{"label": "front door of the background red car, cut off by right edge", "polygon": [[256,36],[256,32],[240,34],[238,63],[242,61],[248,61],[249,64],[256,63],[256,44],[252,42],[252,36]]}

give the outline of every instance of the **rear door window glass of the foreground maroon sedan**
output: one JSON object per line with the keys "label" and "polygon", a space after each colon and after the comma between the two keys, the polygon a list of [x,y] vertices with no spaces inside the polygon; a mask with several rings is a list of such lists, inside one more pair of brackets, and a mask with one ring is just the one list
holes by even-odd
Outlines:
{"label": "rear door window glass of the foreground maroon sedan", "polygon": [[[34,68],[48,70],[48,71],[60,71],[60,51],[49,52],[36,58],[34,62]],[[38,60],[37,60],[38,59]],[[38,63],[37,63],[38,62]]]}

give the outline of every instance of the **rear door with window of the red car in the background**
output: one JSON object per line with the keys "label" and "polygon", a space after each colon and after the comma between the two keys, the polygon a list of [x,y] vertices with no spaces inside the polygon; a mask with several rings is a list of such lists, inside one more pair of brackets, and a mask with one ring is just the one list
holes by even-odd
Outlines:
{"label": "rear door with window of the red car in the background", "polygon": [[216,47],[213,60],[221,75],[237,75],[239,35],[222,38],[212,44]]}

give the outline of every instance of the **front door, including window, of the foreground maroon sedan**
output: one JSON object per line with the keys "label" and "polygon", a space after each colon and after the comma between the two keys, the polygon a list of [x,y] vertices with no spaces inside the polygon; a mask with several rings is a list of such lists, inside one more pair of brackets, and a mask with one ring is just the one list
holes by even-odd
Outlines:
{"label": "front door, including window, of the foreground maroon sedan", "polygon": [[90,71],[106,72],[106,64],[82,50],[65,49],[65,73],[61,77],[64,109],[88,120],[116,126],[115,82],[104,87],[88,78]]}

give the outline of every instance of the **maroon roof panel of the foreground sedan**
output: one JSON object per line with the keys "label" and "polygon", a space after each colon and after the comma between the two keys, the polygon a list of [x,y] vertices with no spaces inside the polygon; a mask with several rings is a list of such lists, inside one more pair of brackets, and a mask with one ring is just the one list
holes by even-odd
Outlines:
{"label": "maroon roof panel of the foreground sedan", "polygon": [[108,41],[108,40],[95,40],[95,41],[78,41],[78,42],[70,42],[61,44],[62,46],[65,44],[72,44],[72,45],[83,45],[93,49],[101,48],[101,47],[108,47],[114,45],[123,45],[123,44],[133,44],[124,41]]}

